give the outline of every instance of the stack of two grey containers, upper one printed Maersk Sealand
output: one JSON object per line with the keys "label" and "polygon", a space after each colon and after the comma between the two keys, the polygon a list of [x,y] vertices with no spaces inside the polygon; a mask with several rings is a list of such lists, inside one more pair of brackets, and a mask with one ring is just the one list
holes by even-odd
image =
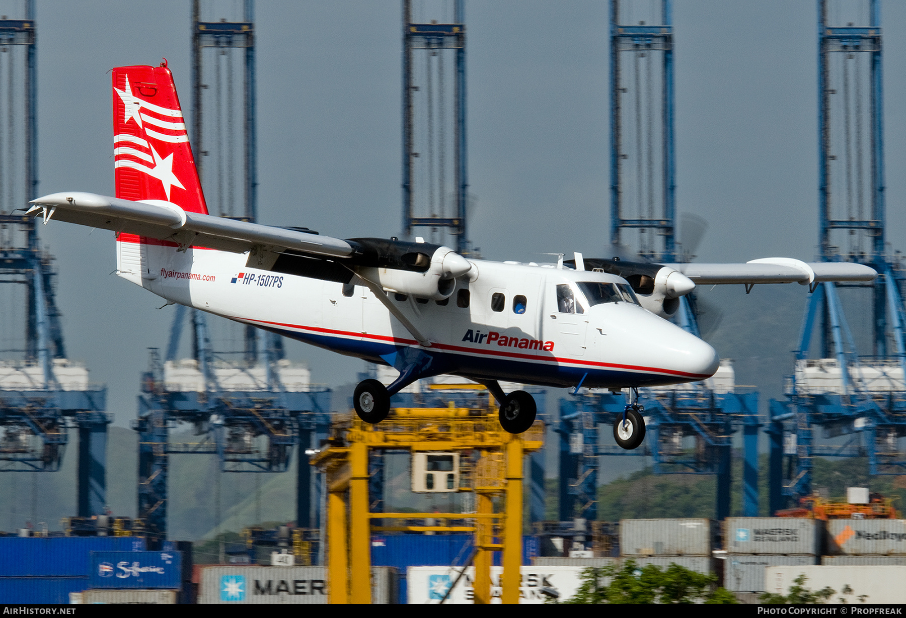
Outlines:
{"label": "stack of two grey containers, upper one printed Maersk Sealand", "polygon": [[821,524],[807,518],[725,519],[724,587],[734,593],[762,593],[766,566],[818,564]]}

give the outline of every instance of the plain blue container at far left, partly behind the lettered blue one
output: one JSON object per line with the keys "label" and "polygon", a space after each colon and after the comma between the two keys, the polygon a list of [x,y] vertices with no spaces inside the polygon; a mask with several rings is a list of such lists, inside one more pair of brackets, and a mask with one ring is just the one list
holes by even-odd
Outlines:
{"label": "plain blue container at far left, partly behind the lettered blue one", "polygon": [[0,537],[4,577],[88,577],[92,551],[144,551],[143,537]]}

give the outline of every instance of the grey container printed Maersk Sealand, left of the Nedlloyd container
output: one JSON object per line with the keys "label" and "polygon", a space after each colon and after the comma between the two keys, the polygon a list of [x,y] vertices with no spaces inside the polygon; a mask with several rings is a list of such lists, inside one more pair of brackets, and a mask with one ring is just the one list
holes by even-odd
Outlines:
{"label": "grey container printed Maersk Sealand, left of the Nedlloyd container", "polygon": [[822,521],[805,518],[726,518],[729,554],[820,556]]}

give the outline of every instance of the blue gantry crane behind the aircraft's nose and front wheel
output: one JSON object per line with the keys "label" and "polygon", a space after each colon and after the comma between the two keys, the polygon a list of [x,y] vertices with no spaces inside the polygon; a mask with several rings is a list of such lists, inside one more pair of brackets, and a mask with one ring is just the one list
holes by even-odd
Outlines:
{"label": "blue gantry crane behind the aircraft's nose and front wheel", "polygon": [[[657,10],[654,10],[657,6]],[[637,248],[649,261],[680,261],[676,231],[673,25],[670,0],[641,6],[610,2],[611,242]],[[642,16],[622,21],[621,8]],[[675,320],[699,335],[694,299],[684,296]],[[716,514],[729,515],[733,435],[744,435],[743,514],[758,514],[757,393],[736,393],[733,371],[721,366],[706,385],[645,389],[643,449],[609,444],[611,427],[629,402],[622,394],[577,393],[560,404],[560,519],[597,518],[602,455],[649,455],[656,474],[716,474]]]}

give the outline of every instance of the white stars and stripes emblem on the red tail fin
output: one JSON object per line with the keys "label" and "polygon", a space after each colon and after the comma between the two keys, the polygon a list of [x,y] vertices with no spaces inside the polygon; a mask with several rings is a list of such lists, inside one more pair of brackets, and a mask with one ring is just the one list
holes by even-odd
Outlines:
{"label": "white stars and stripes emblem on the red tail fin", "polygon": [[[122,119],[123,127],[132,120],[147,138],[158,139],[170,144],[188,142],[186,124],[182,121],[181,111],[162,108],[135,96],[132,93],[128,75],[126,76],[126,89],[114,88],[113,90],[120,95],[120,100],[125,108]],[[157,178],[163,185],[168,200],[174,186],[178,186],[180,189],[186,188],[173,173],[173,153],[171,152],[167,157],[160,157],[158,151],[149,144],[147,139],[129,133],[117,133],[113,136],[113,159],[114,167],[131,167]]]}

